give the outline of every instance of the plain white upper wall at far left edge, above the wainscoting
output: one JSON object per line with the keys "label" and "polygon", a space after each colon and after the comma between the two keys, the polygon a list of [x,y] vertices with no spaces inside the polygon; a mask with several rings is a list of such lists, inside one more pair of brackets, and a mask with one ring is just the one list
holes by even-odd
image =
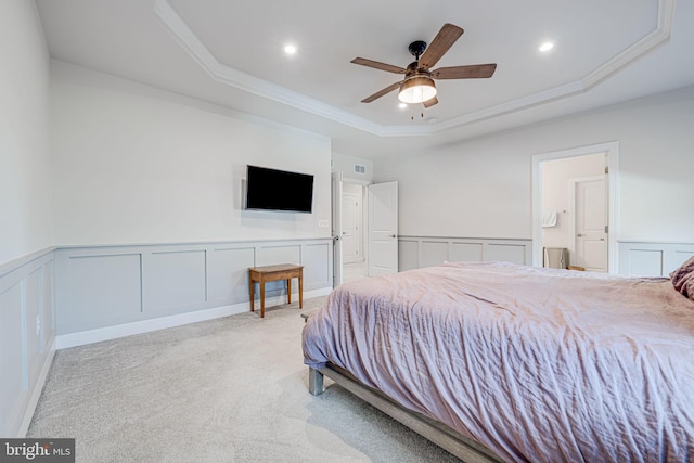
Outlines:
{"label": "plain white upper wall at far left edge, above the wainscoting", "polygon": [[49,57],[36,4],[0,2],[0,266],[52,244]]}

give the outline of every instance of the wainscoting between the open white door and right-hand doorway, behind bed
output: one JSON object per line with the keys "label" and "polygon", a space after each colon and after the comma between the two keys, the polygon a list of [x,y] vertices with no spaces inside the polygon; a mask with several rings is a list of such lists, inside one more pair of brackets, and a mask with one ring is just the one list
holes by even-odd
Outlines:
{"label": "wainscoting between the open white door and right-hand doorway, behind bed", "polygon": [[400,271],[446,261],[506,261],[532,265],[532,240],[400,236]]}

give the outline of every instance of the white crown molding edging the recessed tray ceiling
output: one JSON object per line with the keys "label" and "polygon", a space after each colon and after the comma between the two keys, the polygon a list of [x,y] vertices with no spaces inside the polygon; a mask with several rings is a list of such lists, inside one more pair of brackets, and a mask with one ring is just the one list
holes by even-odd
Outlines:
{"label": "white crown molding edging the recessed tray ceiling", "polygon": [[655,29],[616,54],[582,78],[548,90],[525,95],[498,105],[481,108],[462,116],[442,120],[427,126],[382,125],[337,108],[305,94],[291,91],[284,87],[259,79],[249,74],[234,69],[220,63],[185,24],[167,0],[155,0],[154,12],[171,33],[178,44],[200,65],[213,79],[240,90],[277,101],[282,104],[324,117],[330,120],[372,133],[377,137],[417,137],[427,136],[459,126],[488,120],[505,114],[540,106],[542,104],[584,93],[599,86],[607,77],[618,73],[627,65],[660,44],[670,40],[676,0],[659,0],[658,16]]}

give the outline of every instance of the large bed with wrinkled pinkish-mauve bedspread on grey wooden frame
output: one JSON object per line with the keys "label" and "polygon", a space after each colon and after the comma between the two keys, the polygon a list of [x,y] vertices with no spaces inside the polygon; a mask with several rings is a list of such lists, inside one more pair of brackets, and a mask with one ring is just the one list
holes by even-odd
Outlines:
{"label": "large bed with wrinkled pinkish-mauve bedspread on grey wooden frame", "polygon": [[309,388],[327,375],[471,462],[694,461],[694,258],[670,276],[464,262],[343,284],[304,326]]}

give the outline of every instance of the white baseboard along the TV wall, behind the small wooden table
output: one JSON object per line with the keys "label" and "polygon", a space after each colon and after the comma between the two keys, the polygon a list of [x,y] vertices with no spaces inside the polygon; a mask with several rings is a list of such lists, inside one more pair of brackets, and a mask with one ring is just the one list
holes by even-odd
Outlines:
{"label": "white baseboard along the TV wall, behind the small wooden table", "polygon": [[[304,298],[320,297],[330,294],[332,288],[321,288],[304,292]],[[286,304],[286,296],[266,298],[266,307]],[[292,295],[293,300],[298,300],[298,294]],[[167,327],[181,326],[190,323],[197,323],[206,320],[234,316],[250,311],[248,303],[234,304],[229,306],[215,307],[205,310],[179,313],[169,317],[159,317],[139,322],[124,323],[114,326],[105,326],[95,330],[87,330],[77,333],[62,334],[55,339],[56,349],[67,349],[69,347],[83,346],[87,344],[100,343],[102,340],[116,339],[118,337],[131,336],[133,334],[149,333],[152,331],[165,330]]]}

